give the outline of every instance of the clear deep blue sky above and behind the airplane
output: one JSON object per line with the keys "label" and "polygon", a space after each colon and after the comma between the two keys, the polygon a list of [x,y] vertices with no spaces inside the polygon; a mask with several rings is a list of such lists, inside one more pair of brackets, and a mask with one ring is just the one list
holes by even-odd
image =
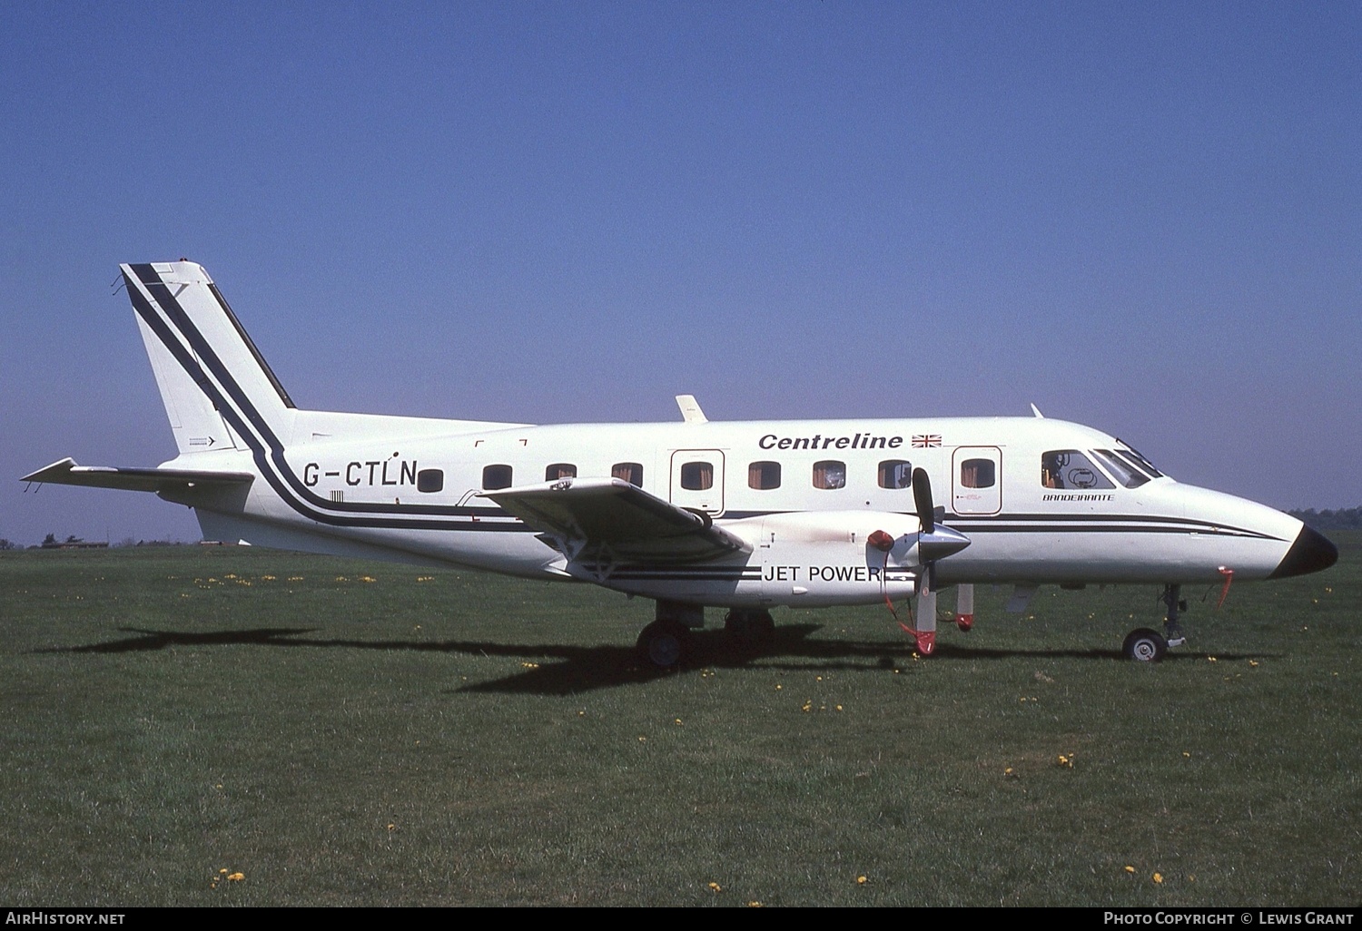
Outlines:
{"label": "clear deep blue sky above and behind the airplane", "polygon": [[0,4],[0,536],[174,445],[120,261],[304,407],[1026,414],[1362,504],[1362,4]]}

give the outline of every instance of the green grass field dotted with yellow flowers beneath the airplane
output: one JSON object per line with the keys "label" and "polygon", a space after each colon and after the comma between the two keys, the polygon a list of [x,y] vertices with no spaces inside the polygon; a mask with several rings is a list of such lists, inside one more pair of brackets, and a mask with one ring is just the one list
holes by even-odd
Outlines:
{"label": "green grass field dotted with yellow flowers beneath the airplane", "polygon": [[1118,657],[1154,588],[1046,588],[981,589],[930,660],[883,608],[782,610],[770,653],[710,630],[667,674],[651,603],[586,587],[4,553],[0,904],[1355,905],[1335,536],[1219,612],[1185,591],[1156,666]]}

